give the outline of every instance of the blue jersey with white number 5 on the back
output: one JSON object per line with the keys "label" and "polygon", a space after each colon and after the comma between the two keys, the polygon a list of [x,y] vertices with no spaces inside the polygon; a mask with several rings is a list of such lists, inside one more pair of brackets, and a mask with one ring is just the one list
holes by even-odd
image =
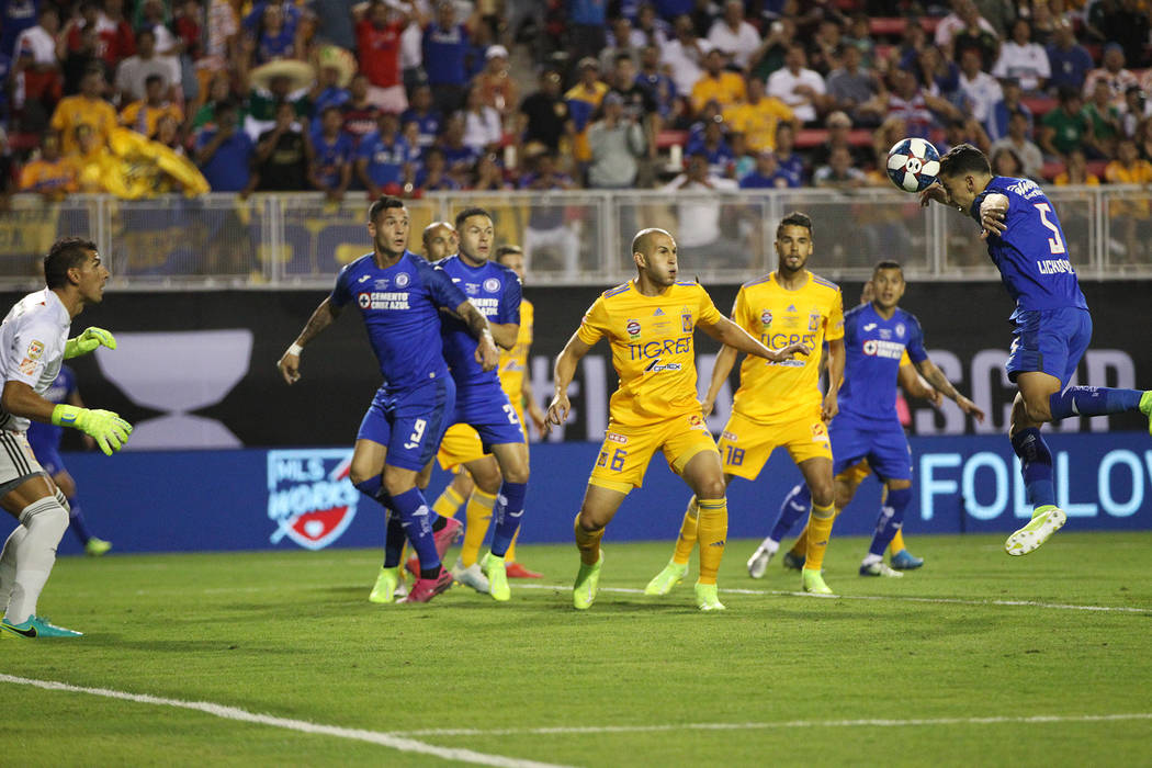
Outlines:
{"label": "blue jersey with white number 5 on the back", "polygon": [[1076,271],[1068,260],[1068,239],[1044,190],[1030,178],[995,176],[969,211],[977,222],[980,203],[991,192],[1008,197],[1006,229],[1002,235],[990,234],[987,243],[988,256],[1016,302],[1011,319],[1029,310],[1086,310]]}

